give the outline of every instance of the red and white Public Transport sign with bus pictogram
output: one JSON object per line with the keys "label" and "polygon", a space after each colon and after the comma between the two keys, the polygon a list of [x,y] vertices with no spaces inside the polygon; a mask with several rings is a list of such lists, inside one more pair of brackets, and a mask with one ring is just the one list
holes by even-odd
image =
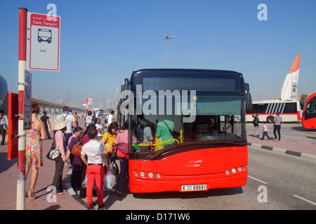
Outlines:
{"label": "red and white Public Transport sign with bus pictogram", "polygon": [[27,13],[27,70],[59,71],[60,16]]}

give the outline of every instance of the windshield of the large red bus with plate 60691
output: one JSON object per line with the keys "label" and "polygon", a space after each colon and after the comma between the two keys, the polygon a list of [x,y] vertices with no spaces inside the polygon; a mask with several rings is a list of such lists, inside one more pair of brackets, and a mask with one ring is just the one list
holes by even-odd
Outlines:
{"label": "windshield of the large red bus with plate 60691", "polygon": [[[203,145],[211,148],[220,147],[220,144],[246,145],[244,96],[204,92],[197,93],[194,99],[187,97],[184,103],[176,102],[174,98],[172,109],[164,101],[164,115],[130,116],[130,130],[137,138],[136,144],[134,142],[131,147],[130,158],[152,158],[152,155],[162,151],[173,151],[183,146]],[[159,100],[157,96],[157,102]],[[180,108],[191,101],[195,101],[195,119],[184,123],[183,118],[187,115]],[[147,101],[143,99],[142,103],[146,105]]]}

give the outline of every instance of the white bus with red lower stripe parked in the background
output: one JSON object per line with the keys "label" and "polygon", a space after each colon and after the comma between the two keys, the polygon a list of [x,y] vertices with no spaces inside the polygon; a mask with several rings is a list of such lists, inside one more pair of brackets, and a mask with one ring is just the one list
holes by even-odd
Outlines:
{"label": "white bus with red lower stripe parked in the background", "polygon": [[301,106],[299,101],[288,100],[264,100],[252,102],[252,110],[246,111],[246,121],[254,120],[252,117],[258,113],[259,120],[273,123],[275,113],[279,112],[284,122],[293,122],[301,120]]}

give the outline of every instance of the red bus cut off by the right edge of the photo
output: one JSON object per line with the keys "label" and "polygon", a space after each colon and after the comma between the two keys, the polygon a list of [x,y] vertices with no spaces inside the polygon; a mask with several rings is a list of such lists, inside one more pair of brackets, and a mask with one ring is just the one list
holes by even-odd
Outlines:
{"label": "red bus cut off by the right edge of the photo", "polygon": [[302,125],[306,129],[316,129],[316,92],[305,101]]}

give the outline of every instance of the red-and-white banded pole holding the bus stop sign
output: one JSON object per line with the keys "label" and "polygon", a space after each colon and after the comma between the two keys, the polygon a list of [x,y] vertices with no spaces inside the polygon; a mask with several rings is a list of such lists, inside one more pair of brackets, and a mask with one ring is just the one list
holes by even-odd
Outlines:
{"label": "red-and-white banded pole holding the bus stop sign", "polygon": [[18,64],[18,183],[16,209],[25,209],[25,130],[24,96],[25,96],[25,69],[26,69],[26,44],[27,44],[27,8],[19,8],[19,64]]}

